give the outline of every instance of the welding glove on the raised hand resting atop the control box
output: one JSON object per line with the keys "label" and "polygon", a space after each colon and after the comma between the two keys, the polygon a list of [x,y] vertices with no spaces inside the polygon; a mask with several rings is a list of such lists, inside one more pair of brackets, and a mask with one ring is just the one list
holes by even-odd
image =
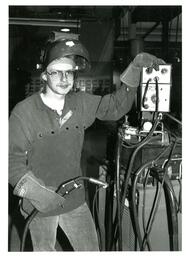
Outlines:
{"label": "welding glove on the raised hand resting atop the control box", "polygon": [[165,61],[146,52],[139,53],[120,75],[120,80],[130,87],[138,87],[142,68],[147,67],[151,72],[153,68],[159,70],[161,64],[165,64]]}

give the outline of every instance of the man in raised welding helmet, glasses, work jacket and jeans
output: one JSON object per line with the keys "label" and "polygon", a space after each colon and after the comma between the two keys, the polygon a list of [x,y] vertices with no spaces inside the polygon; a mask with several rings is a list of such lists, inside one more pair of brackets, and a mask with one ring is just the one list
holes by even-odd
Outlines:
{"label": "man in raised welding helmet, glasses, work jacket and jeans", "polygon": [[30,224],[34,251],[55,251],[60,226],[75,251],[98,251],[98,239],[84,186],[66,199],[55,191],[62,182],[81,176],[85,129],[100,120],[118,120],[132,106],[143,66],[163,61],[139,54],[120,76],[123,85],[104,97],[73,92],[76,75],[89,65],[77,40],[50,44],[41,77],[44,88],[18,103],[10,116],[9,182],[22,198],[21,213],[39,213]]}

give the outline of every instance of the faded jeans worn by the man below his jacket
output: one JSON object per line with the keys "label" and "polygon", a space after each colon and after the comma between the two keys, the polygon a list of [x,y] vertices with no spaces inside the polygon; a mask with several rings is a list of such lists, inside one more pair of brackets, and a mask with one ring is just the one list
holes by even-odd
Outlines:
{"label": "faded jeans worn by the man below his jacket", "polygon": [[[36,216],[29,226],[33,250],[56,251],[58,226],[66,234],[74,251],[99,251],[95,224],[86,203],[58,216]],[[63,244],[63,241],[59,242]]]}

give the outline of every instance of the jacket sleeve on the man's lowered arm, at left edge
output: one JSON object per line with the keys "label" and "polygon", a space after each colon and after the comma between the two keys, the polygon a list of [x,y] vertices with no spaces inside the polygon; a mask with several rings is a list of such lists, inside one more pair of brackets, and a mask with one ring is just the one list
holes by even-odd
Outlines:
{"label": "jacket sleeve on the man's lowered arm, at left edge", "polygon": [[27,148],[29,144],[26,125],[15,108],[9,119],[9,183],[14,187],[29,170]]}

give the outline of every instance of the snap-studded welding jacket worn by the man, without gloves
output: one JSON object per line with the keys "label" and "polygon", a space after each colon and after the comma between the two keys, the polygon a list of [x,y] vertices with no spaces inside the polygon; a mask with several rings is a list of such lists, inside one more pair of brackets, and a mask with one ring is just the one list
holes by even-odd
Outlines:
{"label": "snap-studded welding jacket worn by the man, without gloves", "polygon": [[[61,116],[43,103],[39,92],[19,102],[9,120],[9,183],[14,187],[23,175],[32,171],[47,187],[56,189],[62,182],[81,176],[85,129],[96,118],[121,118],[131,109],[135,93],[136,88],[126,85],[103,97],[70,92]],[[76,189],[60,212],[45,216],[71,211],[84,201],[84,187]],[[33,210],[26,199],[23,209],[27,213]]]}

